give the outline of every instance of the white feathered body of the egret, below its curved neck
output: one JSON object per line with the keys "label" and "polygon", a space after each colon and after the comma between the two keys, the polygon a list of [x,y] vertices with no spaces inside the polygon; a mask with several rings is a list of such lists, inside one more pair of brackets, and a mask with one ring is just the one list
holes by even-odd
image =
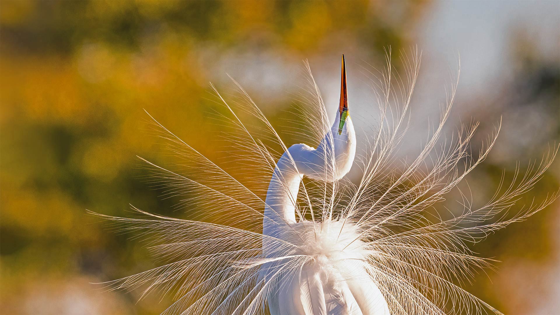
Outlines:
{"label": "white feathered body of the egret, below its curved neck", "polygon": [[[370,314],[389,315],[385,298],[367,273],[367,251],[354,242],[358,230],[343,221],[321,223],[301,221],[287,232],[287,240],[297,244],[294,255],[312,257],[301,270],[283,273],[276,280],[268,307],[271,314]],[[340,234],[339,234],[340,233]],[[272,266],[271,266],[272,265]],[[274,272],[279,266],[263,265]]]}

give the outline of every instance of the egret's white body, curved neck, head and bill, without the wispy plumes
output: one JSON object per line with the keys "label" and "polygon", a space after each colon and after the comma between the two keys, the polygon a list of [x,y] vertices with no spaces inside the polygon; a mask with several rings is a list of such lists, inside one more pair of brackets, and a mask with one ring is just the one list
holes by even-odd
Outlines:
{"label": "egret's white body, curved neck, head and bill, without the wispy plumes", "polygon": [[[268,297],[270,313],[389,315],[383,294],[367,272],[367,251],[362,242],[354,242],[356,226],[330,215],[320,223],[296,220],[295,201],[302,177],[339,180],[349,172],[355,155],[343,55],[340,102],[333,126],[317,149],[300,143],[284,152],[268,187],[263,235],[296,245],[284,248],[266,238],[263,241],[264,256],[275,260],[265,263],[261,272],[265,281],[276,282],[272,290],[278,294]],[[309,261],[298,269],[281,270],[282,260],[277,258],[294,255],[309,257]]]}

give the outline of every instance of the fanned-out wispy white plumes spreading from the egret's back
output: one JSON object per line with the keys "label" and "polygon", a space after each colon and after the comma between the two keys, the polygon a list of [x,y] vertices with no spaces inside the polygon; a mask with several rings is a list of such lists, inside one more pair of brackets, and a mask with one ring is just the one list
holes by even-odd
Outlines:
{"label": "fanned-out wispy white plumes spreading from the egret's back", "polygon": [[[120,229],[136,231],[148,240],[151,251],[166,261],[106,285],[110,289],[141,289],[142,296],[152,291],[172,293],[175,303],[164,314],[265,314],[269,312],[267,299],[284,294],[282,275],[301,275],[316,258],[302,249],[308,239],[321,239],[329,229],[328,237],[334,235],[333,242],[340,247],[337,250],[342,255],[348,253],[340,261],[365,268],[391,314],[500,314],[460,286],[494,263],[477,257],[469,244],[527,219],[557,199],[558,192],[553,192],[539,203],[517,204],[552,164],[558,147],[539,163],[530,163],[526,172],[518,166],[511,183],[502,177],[490,200],[475,207],[458,185],[486,159],[500,126],[475,153],[470,143],[478,123],[461,127],[446,138],[444,125],[454,103],[455,83],[419,154],[403,167],[395,166],[399,158],[396,152],[409,129],[410,100],[420,59],[417,50],[402,58],[404,77],[395,74],[390,55],[383,70],[365,69],[381,118],[375,126],[363,126],[371,130],[359,140],[367,146],[357,156],[361,178],[357,183],[347,178],[304,180],[297,200],[292,202],[298,222],[307,222],[311,228],[295,230],[295,239],[261,233],[270,176],[288,145],[235,80],[237,94],[231,101],[214,86],[212,90],[224,109],[215,117],[232,127],[221,134],[232,150],[232,169],[246,170],[244,180],[230,175],[150,116],[151,133],[164,140],[179,163],[158,166],[140,158],[149,180],[165,189],[165,197],[178,197],[179,209],[196,210],[195,218],[175,219],[136,207],[132,209],[138,217],[96,214]],[[301,114],[290,124],[290,132],[316,144],[330,123],[307,62],[305,70],[309,80],[305,92],[296,99],[306,106],[298,109]],[[325,170],[331,167],[332,159],[326,160]],[[446,216],[427,211],[454,189],[461,196],[460,209]],[[216,218],[220,224],[209,223]],[[273,244],[276,254],[263,253],[263,244]],[[356,252],[360,254],[354,257]],[[263,270],[266,277],[261,276]],[[351,273],[338,277],[353,281]],[[314,280],[300,281],[307,281],[311,288]]]}

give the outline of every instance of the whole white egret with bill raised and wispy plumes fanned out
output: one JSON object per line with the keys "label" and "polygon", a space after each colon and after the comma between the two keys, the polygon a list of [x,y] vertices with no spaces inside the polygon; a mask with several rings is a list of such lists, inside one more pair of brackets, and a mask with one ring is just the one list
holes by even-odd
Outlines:
{"label": "whole white egret with bill raised and wispy plumes fanned out", "polygon": [[[558,192],[542,203],[508,212],[552,164],[558,147],[541,163],[530,164],[525,174],[517,170],[512,183],[503,186],[502,182],[486,204],[474,207],[464,198],[459,201],[461,209],[452,212],[455,215],[427,217],[424,210],[453,189],[465,197],[458,184],[486,158],[500,128],[478,154],[469,150],[478,123],[461,128],[454,141],[442,141],[454,85],[437,127],[418,156],[398,168],[394,155],[408,129],[420,57],[413,52],[412,58],[404,59],[408,70],[404,81],[392,76],[389,60],[387,68],[372,78],[381,119],[368,133],[370,147],[360,159],[348,108],[344,57],[333,124],[312,76],[307,86],[311,95],[301,98],[309,106],[304,110],[306,127],[317,140],[307,143],[318,143],[317,149],[305,144],[288,148],[237,83],[241,96],[234,103],[214,89],[225,108],[221,117],[235,128],[225,137],[240,149],[241,156],[234,155],[233,160],[249,170],[246,182],[154,119],[153,131],[166,141],[181,166],[172,170],[142,160],[157,183],[167,187],[166,194],[180,196],[179,207],[189,207],[200,216],[175,219],[136,207],[144,217],[100,215],[152,239],[152,251],[168,261],[108,285],[143,288],[142,296],[156,289],[174,292],[176,301],[165,314],[500,314],[456,285],[493,262],[475,256],[468,243],[525,220],[556,200]],[[309,64],[306,67],[310,73]],[[261,123],[260,137],[238,113]],[[280,151],[272,149],[274,144]],[[344,176],[354,160],[363,170],[357,184]],[[311,182],[302,181],[304,177]],[[212,215],[221,224],[209,223]]]}

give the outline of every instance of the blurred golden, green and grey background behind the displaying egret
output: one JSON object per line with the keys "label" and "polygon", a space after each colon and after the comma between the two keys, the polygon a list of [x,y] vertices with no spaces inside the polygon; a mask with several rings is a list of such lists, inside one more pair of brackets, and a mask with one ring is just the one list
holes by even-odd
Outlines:
{"label": "blurred golden, green and grey background behind the displaying egret", "polygon": [[[227,73],[236,78],[282,129],[291,93],[305,83],[304,59],[334,109],[344,53],[351,106],[360,108],[352,115],[367,117],[376,105],[362,67],[382,67],[390,46],[399,68],[402,50],[416,45],[418,135],[438,117],[459,56],[449,131],[477,119],[481,141],[503,119],[491,155],[468,177],[475,201],[492,196],[502,169],[511,177],[516,161],[523,169],[558,142],[560,2],[0,2],[0,312],[147,314],[170,304],[171,296],[138,301],[139,292],[90,284],[156,262],[86,209],[124,216],[132,203],[189,217],[139,179],[146,170],[136,155],[166,161],[142,131],[143,109],[223,160],[209,141],[220,128],[207,116],[209,81],[228,92]],[[417,149],[413,140],[405,143]],[[559,173],[557,159],[536,200],[558,189]],[[558,202],[473,249],[503,262],[466,290],[506,314],[560,313]]]}

